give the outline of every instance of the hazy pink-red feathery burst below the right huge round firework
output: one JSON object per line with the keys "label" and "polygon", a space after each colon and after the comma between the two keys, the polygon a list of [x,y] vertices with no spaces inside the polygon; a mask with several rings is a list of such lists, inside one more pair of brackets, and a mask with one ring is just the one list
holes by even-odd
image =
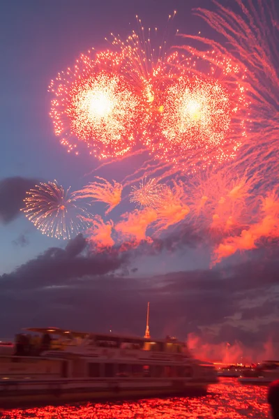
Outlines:
{"label": "hazy pink-red feathery burst below the right huge round firework", "polygon": [[[211,235],[239,231],[255,218],[257,177],[239,176],[224,169],[187,178],[184,192],[190,220]],[[248,211],[249,208],[249,211]]]}

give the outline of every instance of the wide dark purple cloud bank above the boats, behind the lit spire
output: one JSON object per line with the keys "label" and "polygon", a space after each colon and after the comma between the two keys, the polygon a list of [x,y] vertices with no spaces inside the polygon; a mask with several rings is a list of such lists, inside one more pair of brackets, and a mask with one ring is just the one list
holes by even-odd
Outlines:
{"label": "wide dark purple cloud bank above the boats, behind the lit spire", "polygon": [[[90,255],[86,240],[78,235],[65,249],[48,249],[2,275],[1,334],[28,325],[54,325],[143,335],[148,301],[154,337],[183,339],[190,332],[208,330],[215,344],[235,339],[256,345],[278,327],[277,253],[261,262],[251,253],[241,265],[141,278],[129,276],[130,257]],[[263,334],[264,326],[268,332]]]}

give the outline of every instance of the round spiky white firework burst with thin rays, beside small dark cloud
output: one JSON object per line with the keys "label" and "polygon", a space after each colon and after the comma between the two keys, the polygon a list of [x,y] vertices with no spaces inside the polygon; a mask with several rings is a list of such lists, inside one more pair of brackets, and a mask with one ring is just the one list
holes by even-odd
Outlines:
{"label": "round spiky white firework burst with thin rays, beside small dark cloud", "polygon": [[49,237],[69,239],[86,228],[82,219],[89,216],[85,209],[77,205],[75,193],[70,193],[54,182],[40,183],[27,192],[22,211],[27,218]]}

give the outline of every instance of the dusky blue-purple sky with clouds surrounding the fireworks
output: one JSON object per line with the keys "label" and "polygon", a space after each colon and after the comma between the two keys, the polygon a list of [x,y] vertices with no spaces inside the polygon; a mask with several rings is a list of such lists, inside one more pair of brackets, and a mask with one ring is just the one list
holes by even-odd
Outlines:
{"label": "dusky blue-purple sky with clouds surrounding the fireworks", "polygon": [[[1,2],[1,337],[50,325],[143,335],[150,301],[151,335],[185,339],[194,333],[211,344],[276,346],[278,249],[236,254],[210,269],[211,249],[202,235],[187,230],[175,246],[175,237],[165,235],[153,254],[144,246],[120,256],[92,254],[81,235],[68,243],[46,237],[19,211],[33,182],[57,179],[80,189],[98,166],[85,153],[68,154],[54,136],[50,80],[92,46],[107,49],[104,38],[111,32],[126,38],[137,27],[135,15],[163,34],[167,16],[177,10],[169,27],[172,43],[181,42],[172,36],[176,29],[211,36],[212,29],[191,13],[194,6],[214,8],[209,0]],[[97,174],[120,182],[134,166],[135,159],[126,159]],[[130,208],[124,201],[112,219]]]}

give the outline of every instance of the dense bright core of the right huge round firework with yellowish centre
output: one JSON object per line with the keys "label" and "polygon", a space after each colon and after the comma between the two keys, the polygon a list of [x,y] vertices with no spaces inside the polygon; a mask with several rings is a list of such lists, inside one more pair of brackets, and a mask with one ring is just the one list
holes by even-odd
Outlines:
{"label": "dense bright core of the right huge round firework with yellowish centre", "polygon": [[231,105],[218,82],[180,78],[165,94],[159,148],[163,156],[220,145],[229,129]]}

